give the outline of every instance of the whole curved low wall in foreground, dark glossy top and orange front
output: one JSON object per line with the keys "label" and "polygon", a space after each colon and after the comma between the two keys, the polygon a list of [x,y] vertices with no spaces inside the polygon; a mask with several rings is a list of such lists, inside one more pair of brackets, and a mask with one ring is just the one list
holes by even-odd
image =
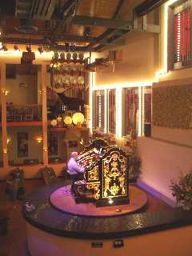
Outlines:
{"label": "whole curved low wall in foreground, dark glossy top and orange front", "polygon": [[[23,205],[31,256],[124,256],[127,252],[153,256],[154,250],[157,256],[167,256],[170,251],[180,253],[183,248],[189,251],[185,255],[190,255],[192,228],[186,225],[192,224],[191,211],[167,208],[99,218],[66,214],[50,205],[50,194],[64,185],[61,182],[42,186],[26,195],[26,202],[34,205],[32,211],[27,210],[26,202]],[[175,229],[181,226],[182,229]],[[164,232],[157,232],[160,230]],[[181,240],[184,236],[186,239]]]}

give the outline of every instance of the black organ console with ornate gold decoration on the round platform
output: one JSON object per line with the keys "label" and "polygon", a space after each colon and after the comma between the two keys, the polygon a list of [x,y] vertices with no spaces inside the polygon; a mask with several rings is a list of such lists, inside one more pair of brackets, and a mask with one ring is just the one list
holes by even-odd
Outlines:
{"label": "black organ console with ornate gold decoration on the round platform", "polygon": [[77,182],[78,202],[92,198],[96,206],[129,203],[129,155],[121,148],[96,139],[77,162],[86,170],[84,181]]}

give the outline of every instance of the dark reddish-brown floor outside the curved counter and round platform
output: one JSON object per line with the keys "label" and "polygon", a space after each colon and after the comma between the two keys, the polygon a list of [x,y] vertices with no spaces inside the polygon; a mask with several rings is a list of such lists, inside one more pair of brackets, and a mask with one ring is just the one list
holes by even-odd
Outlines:
{"label": "dark reddish-brown floor outside the curved counter and round platform", "polygon": [[[26,193],[35,188],[42,186],[44,181],[26,180]],[[162,208],[167,208],[165,202],[162,202],[153,195],[148,194],[148,205],[145,211],[153,211]],[[28,256],[26,250],[26,225],[24,218],[22,218],[22,201],[11,201],[5,194],[5,182],[0,182],[0,207],[7,207],[9,209],[9,226],[6,235],[0,236],[0,256]],[[38,256],[38,255],[33,255]]]}

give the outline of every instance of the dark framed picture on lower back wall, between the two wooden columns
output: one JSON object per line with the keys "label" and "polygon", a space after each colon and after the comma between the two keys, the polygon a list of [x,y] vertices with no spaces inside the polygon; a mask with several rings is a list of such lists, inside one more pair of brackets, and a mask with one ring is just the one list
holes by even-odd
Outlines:
{"label": "dark framed picture on lower back wall, between the two wooden columns", "polygon": [[28,153],[28,134],[18,133],[18,158],[26,158]]}

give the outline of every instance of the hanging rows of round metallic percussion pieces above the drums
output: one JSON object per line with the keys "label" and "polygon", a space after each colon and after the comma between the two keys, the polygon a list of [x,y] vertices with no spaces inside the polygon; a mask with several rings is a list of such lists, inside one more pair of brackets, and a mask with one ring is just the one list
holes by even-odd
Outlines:
{"label": "hanging rows of round metallic percussion pieces above the drums", "polygon": [[83,53],[58,53],[50,62],[52,85],[54,91],[63,93],[66,90],[86,89],[86,70]]}

